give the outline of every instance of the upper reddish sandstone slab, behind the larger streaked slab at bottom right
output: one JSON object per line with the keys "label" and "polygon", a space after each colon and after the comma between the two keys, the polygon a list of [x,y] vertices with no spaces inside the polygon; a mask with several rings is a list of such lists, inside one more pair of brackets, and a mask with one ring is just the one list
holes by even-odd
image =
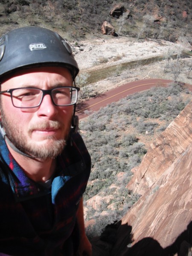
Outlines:
{"label": "upper reddish sandstone slab, behind the larger streaked slab at bottom right", "polygon": [[133,170],[135,174],[128,183],[128,189],[143,195],[190,143],[192,143],[192,102],[151,144],[140,166]]}

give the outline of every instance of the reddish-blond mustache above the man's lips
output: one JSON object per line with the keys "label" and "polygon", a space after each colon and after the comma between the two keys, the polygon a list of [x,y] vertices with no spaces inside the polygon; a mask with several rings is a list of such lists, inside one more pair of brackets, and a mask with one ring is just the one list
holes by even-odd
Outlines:
{"label": "reddish-blond mustache above the man's lips", "polygon": [[35,124],[32,124],[30,127],[29,127],[29,132],[31,133],[32,131],[34,130],[48,130],[48,129],[59,129],[63,127],[63,125],[61,125],[60,122],[58,121],[44,121],[44,122],[38,122],[38,123],[35,123]]}

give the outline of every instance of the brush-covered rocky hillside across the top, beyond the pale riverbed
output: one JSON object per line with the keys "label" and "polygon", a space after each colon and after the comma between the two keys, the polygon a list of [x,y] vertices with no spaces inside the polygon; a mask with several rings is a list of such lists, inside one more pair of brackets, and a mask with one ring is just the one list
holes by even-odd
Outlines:
{"label": "brush-covered rocky hillside across the top, beyond the pale riverbed", "polygon": [[106,21],[115,35],[169,41],[186,36],[191,43],[191,9],[190,0],[1,0],[0,34],[19,26],[44,26],[79,41],[100,35]]}

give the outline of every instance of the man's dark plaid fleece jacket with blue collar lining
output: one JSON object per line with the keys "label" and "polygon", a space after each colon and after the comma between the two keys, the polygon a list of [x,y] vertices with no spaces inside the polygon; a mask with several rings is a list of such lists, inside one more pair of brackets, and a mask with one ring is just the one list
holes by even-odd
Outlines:
{"label": "man's dark plaid fleece jacket with blue collar lining", "polygon": [[90,165],[81,136],[73,134],[47,189],[25,175],[0,137],[0,255],[73,256],[79,244],[76,211]]}

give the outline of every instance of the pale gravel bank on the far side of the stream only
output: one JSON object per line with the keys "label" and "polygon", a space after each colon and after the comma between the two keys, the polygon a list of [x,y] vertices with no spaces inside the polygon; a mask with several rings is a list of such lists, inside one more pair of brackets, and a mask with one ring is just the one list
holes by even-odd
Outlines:
{"label": "pale gravel bank on the far side of the stream only", "polygon": [[[108,60],[106,65],[135,61],[158,55],[175,54],[179,46],[169,41],[136,41],[128,37],[109,37],[107,39],[95,39],[94,41],[82,41],[80,47],[75,49],[75,58],[81,71],[99,68],[102,58]],[[121,58],[119,60],[116,60]],[[97,65],[97,66],[96,66]]]}

